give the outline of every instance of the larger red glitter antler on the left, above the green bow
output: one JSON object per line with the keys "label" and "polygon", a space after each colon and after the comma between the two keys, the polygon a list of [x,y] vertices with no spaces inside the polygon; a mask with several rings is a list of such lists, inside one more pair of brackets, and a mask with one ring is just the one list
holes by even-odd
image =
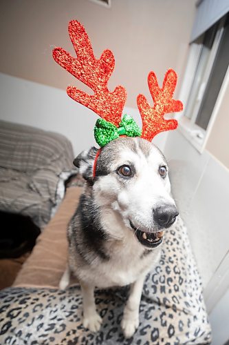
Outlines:
{"label": "larger red glitter antler on the left, above the green bow", "polygon": [[88,95],[74,86],[68,86],[67,94],[83,106],[94,110],[102,119],[118,126],[127,95],[122,86],[117,86],[113,92],[109,92],[107,88],[115,65],[113,53],[105,50],[97,60],[85,28],[78,21],[70,21],[68,30],[77,59],[63,48],[56,48],[53,51],[54,60],[89,86],[94,95]]}

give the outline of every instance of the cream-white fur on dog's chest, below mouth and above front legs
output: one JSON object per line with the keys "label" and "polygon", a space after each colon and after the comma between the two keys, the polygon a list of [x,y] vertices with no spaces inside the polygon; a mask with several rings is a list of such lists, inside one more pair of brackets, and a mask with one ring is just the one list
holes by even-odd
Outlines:
{"label": "cream-white fur on dog's chest, below mouth and above front legs", "polygon": [[107,242],[109,259],[102,262],[96,258],[89,266],[78,268],[78,277],[98,288],[131,284],[155,266],[160,257],[160,248],[144,253],[138,240]]}

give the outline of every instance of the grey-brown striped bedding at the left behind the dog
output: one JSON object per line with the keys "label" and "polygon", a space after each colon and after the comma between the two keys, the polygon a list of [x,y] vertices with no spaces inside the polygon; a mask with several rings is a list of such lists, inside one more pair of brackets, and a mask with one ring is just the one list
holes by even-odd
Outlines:
{"label": "grey-brown striped bedding at the left behind the dog", "polygon": [[28,215],[43,228],[59,175],[72,169],[73,159],[63,135],[0,121],[0,210]]}

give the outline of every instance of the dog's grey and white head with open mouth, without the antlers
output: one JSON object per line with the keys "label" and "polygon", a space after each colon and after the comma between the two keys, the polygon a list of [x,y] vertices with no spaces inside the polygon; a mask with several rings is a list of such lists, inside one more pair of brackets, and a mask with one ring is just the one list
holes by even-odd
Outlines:
{"label": "dog's grey and white head with open mouth, without the antlers", "polygon": [[149,141],[120,137],[102,148],[93,177],[97,151],[91,148],[74,160],[96,205],[118,213],[142,245],[155,248],[178,215],[164,155]]}

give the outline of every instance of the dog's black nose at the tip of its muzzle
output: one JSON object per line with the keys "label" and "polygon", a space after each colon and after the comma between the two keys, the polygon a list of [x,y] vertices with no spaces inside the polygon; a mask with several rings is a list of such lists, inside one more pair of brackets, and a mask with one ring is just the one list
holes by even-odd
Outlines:
{"label": "dog's black nose at the tip of its muzzle", "polygon": [[161,228],[169,228],[179,215],[174,205],[161,205],[154,209],[153,219]]}

